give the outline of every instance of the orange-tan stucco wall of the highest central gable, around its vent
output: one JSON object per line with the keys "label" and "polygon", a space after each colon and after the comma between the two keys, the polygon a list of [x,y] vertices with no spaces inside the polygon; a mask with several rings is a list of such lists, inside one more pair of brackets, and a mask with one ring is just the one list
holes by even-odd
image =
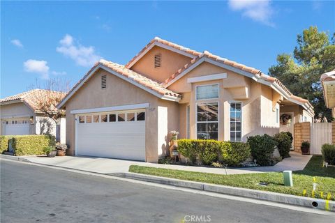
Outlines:
{"label": "orange-tan stucco wall of the highest central gable, around its vent", "polygon": [[[161,68],[154,68],[154,56],[159,53],[162,61]],[[137,61],[131,69],[158,82],[163,82],[190,61],[191,58],[188,56],[155,46]]]}

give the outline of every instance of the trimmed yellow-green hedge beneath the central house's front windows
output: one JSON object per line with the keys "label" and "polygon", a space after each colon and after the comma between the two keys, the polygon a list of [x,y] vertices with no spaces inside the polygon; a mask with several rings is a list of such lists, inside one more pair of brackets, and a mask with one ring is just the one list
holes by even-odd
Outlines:
{"label": "trimmed yellow-green hedge beneath the central house's front windows", "polygon": [[237,166],[251,154],[249,145],[243,142],[205,139],[179,139],[178,151],[191,163],[198,158],[205,165],[220,161],[228,166]]}

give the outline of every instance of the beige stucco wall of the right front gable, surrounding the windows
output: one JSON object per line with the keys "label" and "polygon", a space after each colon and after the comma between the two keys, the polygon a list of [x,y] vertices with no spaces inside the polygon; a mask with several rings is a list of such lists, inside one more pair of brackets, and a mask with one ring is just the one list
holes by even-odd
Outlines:
{"label": "beige stucco wall of the right front gable, surrounding the windows", "polygon": [[[227,73],[227,78],[207,82],[187,83],[189,77],[200,77],[203,75],[213,75],[218,73]],[[196,86],[204,84],[219,84],[219,98],[214,100],[196,100]],[[279,132],[279,125],[276,122],[276,111],[272,109],[272,89],[260,83],[253,81],[230,70],[225,70],[210,63],[202,63],[200,66],[188,72],[174,82],[169,89],[187,94],[181,100],[183,104],[179,107],[179,130],[180,138],[186,137],[186,106],[190,105],[190,134],[191,139],[196,139],[196,104],[199,102],[218,102],[219,126],[218,139],[230,140],[230,102],[241,102],[242,105],[242,140],[246,141],[248,136],[254,134],[275,134]],[[241,91],[234,89],[244,89]],[[189,96],[188,96],[189,94]],[[267,121],[262,118],[263,111],[270,116],[273,121]],[[269,117],[267,117],[269,118]]]}

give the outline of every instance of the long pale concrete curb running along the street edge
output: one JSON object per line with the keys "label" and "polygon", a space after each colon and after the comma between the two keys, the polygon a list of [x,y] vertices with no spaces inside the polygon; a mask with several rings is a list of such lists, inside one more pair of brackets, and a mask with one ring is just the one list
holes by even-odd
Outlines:
{"label": "long pale concrete curb running along the street edge", "polygon": [[[326,201],[323,199],[313,199],[311,197],[299,197],[290,194],[279,194],[276,192],[265,192],[261,190],[252,190],[247,188],[241,187],[230,187],[224,185],[214,185],[209,183],[200,183],[200,182],[193,182],[188,180],[178,180],[173,178],[165,178],[161,176],[151,176],[145,174],[135,174],[135,173],[110,173],[110,174],[102,174],[96,171],[87,171],[82,169],[75,169],[75,168],[68,168],[68,167],[60,167],[57,165],[52,164],[40,164],[38,162],[31,162],[23,157],[15,157],[12,155],[3,155],[0,154],[1,160],[15,160],[20,162],[30,162],[34,164],[43,165],[46,167],[59,167],[62,169],[72,169],[77,171],[83,171],[91,174],[101,174],[106,176],[114,176],[119,178],[128,178],[133,180],[142,180],[151,183],[158,183],[163,185],[172,185],[175,187],[184,187],[184,188],[191,188],[195,190],[203,190],[206,192],[215,192],[218,194],[227,194],[237,197],[246,197],[251,199],[258,199],[258,200],[265,200],[265,201],[273,201],[277,203],[285,203],[295,206],[304,206],[308,208],[315,208],[320,210],[325,210],[326,202],[328,203],[329,210],[335,212],[335,201]],[[317,205],[316,207],[313,204]]]}

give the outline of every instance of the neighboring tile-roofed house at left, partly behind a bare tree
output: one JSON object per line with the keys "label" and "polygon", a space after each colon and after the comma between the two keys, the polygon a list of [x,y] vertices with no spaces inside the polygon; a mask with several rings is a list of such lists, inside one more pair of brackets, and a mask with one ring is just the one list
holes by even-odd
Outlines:
{"label": "neighboring tile-roofed house at left, partly behind a bare tree", "polygon": [[54,120],[38,109],[37,97],[49,93],[59,94],[61,97],[66,95],[57,91],[34,89],[0,99],[0,134],[53,134],[58,141],[65,143],[65,118],[61,118],[60,129],[57,130]]}

